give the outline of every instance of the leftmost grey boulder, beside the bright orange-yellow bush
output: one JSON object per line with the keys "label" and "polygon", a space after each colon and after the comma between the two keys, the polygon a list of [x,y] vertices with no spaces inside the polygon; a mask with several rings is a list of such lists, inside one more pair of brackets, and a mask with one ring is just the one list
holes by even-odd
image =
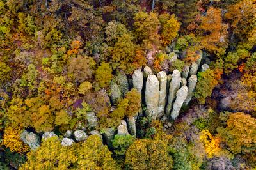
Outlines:
{"label": "leftmost grey boulder, beside the bright orange-yellow bush", "polygon": [[20,138],[26,144],[28,144],[31,150],[36,150],[40,146],[39,136],[33,132],[28,132],[27,130],[23,130],[20,134]]}

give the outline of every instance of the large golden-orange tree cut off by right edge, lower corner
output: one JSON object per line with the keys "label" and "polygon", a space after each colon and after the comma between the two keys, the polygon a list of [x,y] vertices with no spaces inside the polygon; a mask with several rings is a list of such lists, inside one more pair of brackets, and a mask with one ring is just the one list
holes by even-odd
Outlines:
{"label": "large golden-orange tree cut off by right edge, lower corner", "polygon": [[217,128],[221,139],[229,146],[232,153],[255,153],[256,119],[249,114],[236,112],[230,114],[227,127]]}

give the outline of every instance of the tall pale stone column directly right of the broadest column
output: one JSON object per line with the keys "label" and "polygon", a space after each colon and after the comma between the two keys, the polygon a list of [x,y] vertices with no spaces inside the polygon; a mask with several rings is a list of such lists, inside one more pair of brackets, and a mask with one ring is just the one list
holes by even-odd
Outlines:
{"label": "tall pale stone column directly right of the broadest column", "polygon": [[159,102],[158,102],[157,117],[161,118],[164,115],[164,108],[166,104],[166,86],[167,86],[166,72],[161,71],[157,73],[157,78],[159,81]]}

